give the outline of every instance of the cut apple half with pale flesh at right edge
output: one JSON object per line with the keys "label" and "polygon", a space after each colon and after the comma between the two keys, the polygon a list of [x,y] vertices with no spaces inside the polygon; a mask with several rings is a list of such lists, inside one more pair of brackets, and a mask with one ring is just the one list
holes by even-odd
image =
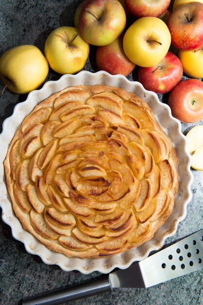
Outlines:
{"label": "cut apple half with pale flesh at right edge", "polygon": [[191,167],[203,171],[203,125],[193,127],[186,134],[186,149],[192,156]]}

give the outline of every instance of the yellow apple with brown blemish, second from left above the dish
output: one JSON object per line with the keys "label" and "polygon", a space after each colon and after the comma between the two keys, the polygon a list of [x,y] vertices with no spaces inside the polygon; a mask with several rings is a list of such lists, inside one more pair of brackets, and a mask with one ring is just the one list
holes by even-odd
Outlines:
{"label": "yellow apple with brown blemish, second from left above the dish", "polygon": [[55,72],[73,74],[85,66],[89,44],[80,36],[79,29],[61,26],[48,36],[44,52]]}

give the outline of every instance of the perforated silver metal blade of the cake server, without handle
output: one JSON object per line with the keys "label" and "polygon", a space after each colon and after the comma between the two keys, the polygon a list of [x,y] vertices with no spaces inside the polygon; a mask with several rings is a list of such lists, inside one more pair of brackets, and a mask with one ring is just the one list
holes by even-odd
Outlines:
{"label": "perforated silver metal blade of the cake server, without handle", "polygon": [[203,229],[139,262],[146,287],[203,268]]}

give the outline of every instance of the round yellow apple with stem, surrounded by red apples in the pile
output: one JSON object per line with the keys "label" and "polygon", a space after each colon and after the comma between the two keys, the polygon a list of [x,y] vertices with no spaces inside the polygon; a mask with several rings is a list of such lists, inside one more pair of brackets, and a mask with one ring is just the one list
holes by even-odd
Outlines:
{"label": "round yellow apple with stem, surrounded by red apples in the pile", "polygon": [[152,67],[166,56],[170,41],[170,32],[163,20],[142,17],[127,29],[123,49],[127,57],[138,66]]}

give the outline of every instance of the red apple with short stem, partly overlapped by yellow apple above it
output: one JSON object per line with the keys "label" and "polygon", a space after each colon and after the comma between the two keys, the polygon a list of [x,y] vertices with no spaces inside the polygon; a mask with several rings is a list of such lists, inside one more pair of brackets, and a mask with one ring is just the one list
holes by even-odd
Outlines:
{"label": "red apple with short stem, partly overlapped by yellow apple above it", "polygon": [[164,94],[175,87],[183,76],[180,59],[173,53],[167,55],[155,66],[138,68],[140,83],[145,89]]}

